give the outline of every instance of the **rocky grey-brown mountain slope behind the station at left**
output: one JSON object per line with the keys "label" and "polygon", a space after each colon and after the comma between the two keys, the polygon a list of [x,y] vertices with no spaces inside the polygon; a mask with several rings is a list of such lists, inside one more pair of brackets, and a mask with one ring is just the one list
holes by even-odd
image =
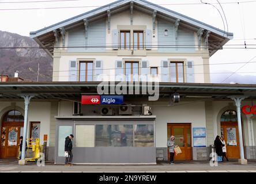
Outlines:
{"label": "rocky grey-brown mountain slope behind the station at left", "polygon": [[[31,38],[0,30],[0,47],[39,47]],[[43,49],[0,49],[0,75],[37,81],[37,65],[40,64],[39,81],[52,81],[52,59]]]}

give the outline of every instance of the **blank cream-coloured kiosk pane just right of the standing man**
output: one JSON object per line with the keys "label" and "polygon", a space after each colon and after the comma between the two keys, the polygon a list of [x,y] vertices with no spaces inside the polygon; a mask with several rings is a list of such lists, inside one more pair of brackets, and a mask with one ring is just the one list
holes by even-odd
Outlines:
{"label": "blank cream-coloured kiosk pane just right of the standing man", "polygon": [[76,125],[76,147],[94,147],[95,125]]}

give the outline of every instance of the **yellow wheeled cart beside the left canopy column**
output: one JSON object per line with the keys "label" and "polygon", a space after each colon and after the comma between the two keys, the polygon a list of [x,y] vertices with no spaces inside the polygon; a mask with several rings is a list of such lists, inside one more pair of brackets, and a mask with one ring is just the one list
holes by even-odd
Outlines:
{"label": "yellow wheeled cart beside the left canopy column", "polygon": [[[43,145],[40,145],[40,139],[27,139],[28,149],[25,152],[25,160],[27,162],[36,162],[40,158],[40,152],[43,150]],[[20,159],[20,148],[18,149],[18,159]]]}

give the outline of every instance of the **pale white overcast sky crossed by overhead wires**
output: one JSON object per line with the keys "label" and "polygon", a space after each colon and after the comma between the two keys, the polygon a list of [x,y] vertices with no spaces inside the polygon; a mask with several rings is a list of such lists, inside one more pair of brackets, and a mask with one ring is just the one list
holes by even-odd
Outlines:
{"label": "pale white overcast sky crossed by overhead wires", "polygon": [[[17,2],[26,3],[17,3]],[[31,1],[31,3],[28,3]],[[59,1],[52,0],[52,2],[35,2],[46,0],[0,0],[0,30],[21,34],[22,36],[29,36],[29,32],[42,29],[57,22],[66,20],[85,13],[86,11],[95,9],[99,6],[107,5],[114,1],[107,0],[70,0]],[[57,2],[59,1],[59,2]],[[217,0],[204,0],[203,2],[214,3],[217,7],[215,9],[212,5],[185,5],[185,3],[201,3],[200,0],[148,0],[157,5],[182,13],[196,20],[205,22],[206,24],[223,29],[224,25],[219,14],[224,14]],[[223,49],[219,50],[212,57],[210,57],[210,72],[213,74],[223,71],[235,72],[239,75],[255,75],[256,76],[256,1],[246,0],[219,0],[224,10],[227,23],[225,30],[234,33],[234,38],[230,40],[225,47],[244,47],[244,39],[246,39],[247,49]],[[9,2],[9,3],[3,3]],[[15,3],[10,3],[15,2]],[[33,3],[32,3],[33,2]],[[238,3],[224,3],[224,2],[240,2]],[[173,4],[182,5],[173,5]],[[171,5],[170,5],[171,4]],[[48,7],[74,7],[74,6],[91,6],[91,7],[77,7],[67,9],[46,9]],[[31,9],[36,10],[9,10],[9,9]],[[8,9],[8,10],[3,10]],[[224,20],[225,22],[225,20]],[[1,40],[0,40],[1,41]],[[235,46],[232,44],[242,44]],[[250,45],[255,44],[255,45]],[[255,57],[255,58],[253,58]],[[245,64],[246,62],[249,62]],[[233,63],[233,64],[219,64],[219,63]],[[245,64],[245,65],[244,65]],[[243,66],[244,65],[244,66]],[[240,68],[242,67],[242,68]],[[240,70],[238,70],[240,68]],[[237,71],[238,70],[238,71]],[[218,75],[218,74],[216,74]]]}

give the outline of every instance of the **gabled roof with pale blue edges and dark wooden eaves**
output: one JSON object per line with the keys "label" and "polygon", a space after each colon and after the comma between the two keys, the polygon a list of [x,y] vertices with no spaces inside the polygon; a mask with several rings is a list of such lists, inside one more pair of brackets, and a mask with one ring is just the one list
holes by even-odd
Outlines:
{"label": "gabled roof with pale blue edges and dark wooden eaves", "polygon": [[[59,28],[71,28],[72,26],[76,24],[83,24],[83,20],[85,18],[88,19],[88,21],[93,20],[95,18],[99,17],[105,17],[107,16],[107,10],[110,10],[112,13],[118,13],[121,10],[124,10],[125,8],[128,8],[130,6],[130,2],[134,3],[134,8],[140,9],[144,11],[145,13],[153,13],[154,10],[157,11],[157,16],[160,18],[165,18],[170,20],[180,20],[180,25],[186,25],[189,26],[191,29],[199,30],[204,29],[204,33],[207,31],[210,32],[209,37],[209,44],[210,44],[210,38],[214,40],[214,44],[210,45],[209,47],[209,54],[210,56],[213,55],[214,52],[217,51],[217,49],[221,48],[225,43],[227,43],[228,40],[232,39],[233,33],[227,33],[224,30],[215,28],[211,25],[205,24],[204,22],[195,20],[194,18],[187,17],[183,14],[177,13],[175,11],[172,11],[170,9],[167,9],[165,7],[156,5],[154,3],[145,1],[145,0],[119,0],[113,3],[110,3],[105,6],[101,6],[97,9],[88,11],[86,13],[80,14],[76,17],[69,18],[65,21],[58,22],[57,24],[48,26],[46,28],[37,30],[35,32],[30,32],[30,37],[35,39],[37,43],[39,43],[42,47],[53,47],[54,45],[51,45],[50,43],[54,42],[54,30],[58,30]],[[217,44],[216,44],[217,39]],[[50,46],[49,46],[50,45]],[[53,49],[47,49],[47,53],[52,55]]]}

